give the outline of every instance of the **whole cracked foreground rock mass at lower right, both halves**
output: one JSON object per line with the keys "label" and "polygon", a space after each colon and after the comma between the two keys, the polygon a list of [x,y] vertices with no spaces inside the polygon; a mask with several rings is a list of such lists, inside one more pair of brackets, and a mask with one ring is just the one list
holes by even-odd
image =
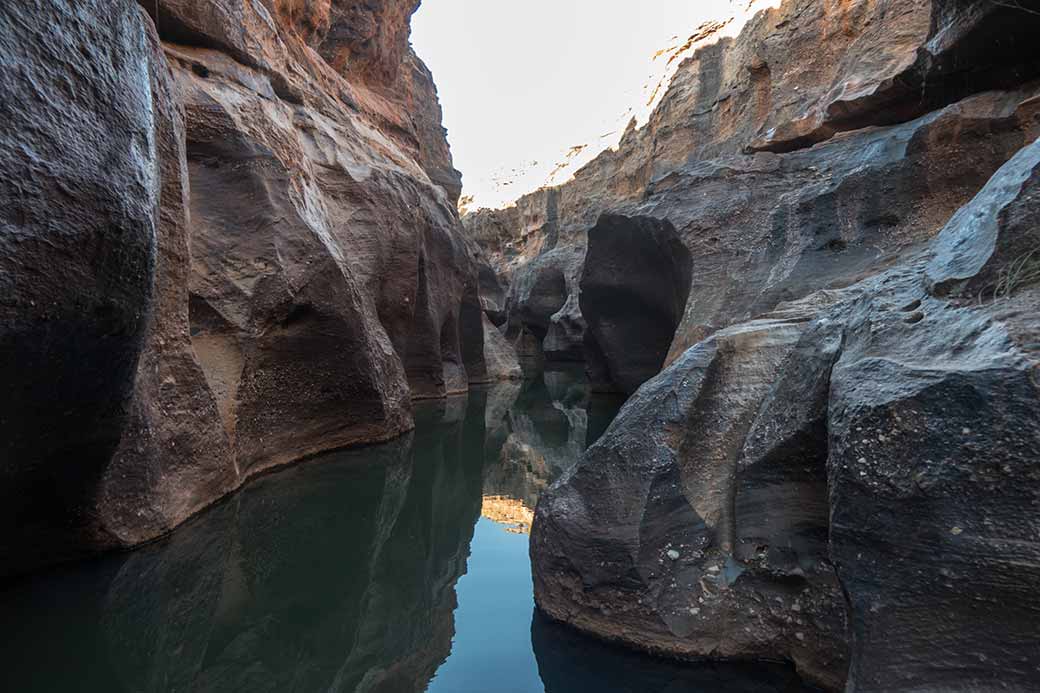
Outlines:
{"label": "whole cracked foreground rock mass at lower right, both halves", "polygon": [[543,496],[554,618],[830,689],[1028,688],[1040,142],[924,252],[718,332]]}

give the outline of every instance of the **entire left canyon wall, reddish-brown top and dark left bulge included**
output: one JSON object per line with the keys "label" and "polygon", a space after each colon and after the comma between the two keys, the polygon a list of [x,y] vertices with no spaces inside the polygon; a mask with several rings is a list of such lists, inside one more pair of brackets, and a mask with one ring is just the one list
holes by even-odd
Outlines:
{"label": "entire left canyon wall, reddish-brown top and dark left bulge included", "polygon": [[0,571],[154,538],[489,379],[417,2],[15,4]]}

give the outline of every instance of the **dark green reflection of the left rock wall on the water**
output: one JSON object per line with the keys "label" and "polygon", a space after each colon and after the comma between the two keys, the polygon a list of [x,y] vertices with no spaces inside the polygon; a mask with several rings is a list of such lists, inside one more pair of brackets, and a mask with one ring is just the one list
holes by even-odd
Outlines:
{"label": "dark green reflection of the left rock wall on the water", "polygon": [[[81,662],[96,690],[424,690],[450,651],[484,445],[480,416],[430,409],[414,435],[263,478],[166,541],[110,559],[122,566],[98,587],[98,623],[68,610],[75,637],[27,622],[26,641],[97,641]],[[75,666],[9,683],[51,690]]]}

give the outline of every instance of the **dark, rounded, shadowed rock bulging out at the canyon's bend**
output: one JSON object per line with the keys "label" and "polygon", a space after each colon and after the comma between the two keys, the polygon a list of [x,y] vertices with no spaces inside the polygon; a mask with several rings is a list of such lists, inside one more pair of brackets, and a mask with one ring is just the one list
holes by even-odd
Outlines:
{"label": "dark, rounded, shadowed rock bulging out at the canyon's bend", "polygon": [[668,222],[604,214],[581,274],[593,383],[634,392],[665,364],[690,292],[690,251]]}

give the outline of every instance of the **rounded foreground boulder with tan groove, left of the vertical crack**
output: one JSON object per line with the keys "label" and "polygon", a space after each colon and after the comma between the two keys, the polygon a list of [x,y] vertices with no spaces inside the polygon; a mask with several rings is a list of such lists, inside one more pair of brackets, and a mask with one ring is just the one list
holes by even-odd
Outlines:
{"label": "rounded foreground boulder with tan groove, left of the vertical crack", "polygon": [[827,554],[818,411],[806,400],[792,417],[787,441],[799,445],[746,447],[787,413],[788,401],[759,407],[775,373],[809,349],[814,309],[721,331],[632,395],[538,506],[542,611],[679,659],[786,659],[839,687],[844,610]]}

